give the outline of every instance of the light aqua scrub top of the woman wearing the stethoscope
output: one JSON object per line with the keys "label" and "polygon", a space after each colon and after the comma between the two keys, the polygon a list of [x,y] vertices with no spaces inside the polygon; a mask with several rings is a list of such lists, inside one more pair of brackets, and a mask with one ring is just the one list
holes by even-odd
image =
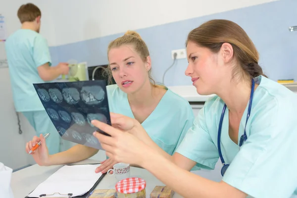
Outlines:
{"label": "light aqua scrub top of the woman wearing the stethoscope", "polygon": [[[224,114],[221,150],[230,166],[223,181],[255,198],[288,198],[297,190],[297,94],[258,76],[247,141],[240,148],[229,137],[229,112]],[[224,102],[206,101],[177,152],[214,169],[219,160],[217,135]],[[238,144],[244,134],[247,107],[240,122]],[[297,192],[297,191],[296,191]]]}

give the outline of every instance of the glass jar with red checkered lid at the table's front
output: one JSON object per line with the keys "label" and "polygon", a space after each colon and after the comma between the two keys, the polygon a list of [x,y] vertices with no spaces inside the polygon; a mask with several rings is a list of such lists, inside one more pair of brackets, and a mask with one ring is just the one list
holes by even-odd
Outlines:
{"label": "glass jar with red checkered lid at the table's front", "polygon": [[146,186],[144,179],[133,177],[119,181],[115,190],[118,198],[146,198]]}

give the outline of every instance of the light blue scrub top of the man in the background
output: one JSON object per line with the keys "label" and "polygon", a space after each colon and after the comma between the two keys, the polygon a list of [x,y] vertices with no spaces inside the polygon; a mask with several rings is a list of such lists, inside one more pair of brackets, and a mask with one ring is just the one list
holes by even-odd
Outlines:
{"label": "light blue scrub top of the man in the background", "polygon": [[51,65],[46,39],[33,30],[20,29],[8,37],[5,50],[16,111],[45,110],[33,83],[44,83],[37,67]]}

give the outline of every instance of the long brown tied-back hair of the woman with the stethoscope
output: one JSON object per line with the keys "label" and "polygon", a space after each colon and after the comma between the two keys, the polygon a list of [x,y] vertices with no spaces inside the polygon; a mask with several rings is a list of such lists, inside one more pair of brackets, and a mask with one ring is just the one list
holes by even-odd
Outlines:
{"label": "long brown tied-back hair of the woman with the stethoscope", "polygon": [[210,49],[213,53],[217,53],[223,43],[229,43],[233,47],[236,61],[241,66],[234,68],[233,77],[240,72],[244,72],[250,78],[259,75],[267,77],[258,65],[259,53],[254,44],[247,33],[232,21],[224,19],[207,21],[189,33],[186,46],[190,41]]}

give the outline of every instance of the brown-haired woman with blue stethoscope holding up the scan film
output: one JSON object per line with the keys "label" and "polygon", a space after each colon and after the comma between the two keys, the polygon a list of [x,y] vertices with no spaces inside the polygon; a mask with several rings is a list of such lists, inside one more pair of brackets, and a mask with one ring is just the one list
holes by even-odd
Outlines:
{"label": "brown-haired woman with blue stethoscope holding up the scan film", "polygon": [[[297,192],[296,94],[263,75],[256,48],[232,21],[202,24],[186,45],[186,75],[198,94],[216,96],[199,111],[176,152],[166,154],[144,138],[135,120],[117,115],[117,128],[93,121],[111,135],[94,133],[107,155],[148,169],[186,198],[291,197]],[[221,182],[189,172],[196,164],[214,169],[219,158]]]}

